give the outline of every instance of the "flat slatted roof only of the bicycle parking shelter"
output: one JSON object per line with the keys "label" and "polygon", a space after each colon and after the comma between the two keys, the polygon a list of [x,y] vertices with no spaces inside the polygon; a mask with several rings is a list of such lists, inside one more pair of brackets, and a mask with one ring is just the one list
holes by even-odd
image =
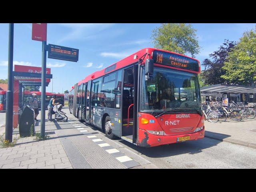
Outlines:
{"label": "flat slatted roof only of the bicycle parking shelter", "polygon": [[256,86],[216,84],[202,87],[201,96],[222,96],[224,93],[256,94]]}

